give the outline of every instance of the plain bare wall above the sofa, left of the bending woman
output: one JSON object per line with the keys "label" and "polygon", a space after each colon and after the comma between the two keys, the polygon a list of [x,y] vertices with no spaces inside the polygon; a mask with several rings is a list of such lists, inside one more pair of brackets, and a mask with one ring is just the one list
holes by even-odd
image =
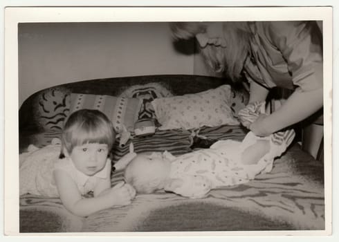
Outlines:
{"label": "plain bare wall above the sofa, left of the bending woman", "polygon": [[20,106],[67,82],[194,73],[194,55],[175,50],[167,23],[19,24],[18,38]]}

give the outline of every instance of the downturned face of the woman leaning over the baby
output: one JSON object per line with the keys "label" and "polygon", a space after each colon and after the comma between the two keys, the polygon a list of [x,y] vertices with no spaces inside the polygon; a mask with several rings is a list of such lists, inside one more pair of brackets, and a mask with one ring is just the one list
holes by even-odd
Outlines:
{"label": "downturned face of the woman leaning over the baby", "polygon": [[206,25],[207,28],[205,32],[200,32],[195,35],[200,47],[205,48],[205,46],[209,44],[226,48],[226,41],[223,37],[223,23],[210,22]]}

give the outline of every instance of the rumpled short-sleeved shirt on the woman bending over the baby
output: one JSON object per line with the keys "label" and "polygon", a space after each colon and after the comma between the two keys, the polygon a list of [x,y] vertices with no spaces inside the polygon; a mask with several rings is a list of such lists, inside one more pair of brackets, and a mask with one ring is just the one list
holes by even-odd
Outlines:
{"label": "rumpled short-sleeved shirt on the woman bending over the baby", "polygon": [[292,75],[293,84],[302,91],[321,89],[322,34],[315,21],[273,21],[267,35],[281,51]]}

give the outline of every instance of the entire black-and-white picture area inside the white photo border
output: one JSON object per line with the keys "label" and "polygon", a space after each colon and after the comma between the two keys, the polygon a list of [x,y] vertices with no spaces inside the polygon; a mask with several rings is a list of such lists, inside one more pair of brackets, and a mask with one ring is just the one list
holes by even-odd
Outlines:
{"label": "entire black-and-white picture area inside the white photo border", "polygon": [[19,234],[328,229],[329,22],[217,19],[17,24]]}

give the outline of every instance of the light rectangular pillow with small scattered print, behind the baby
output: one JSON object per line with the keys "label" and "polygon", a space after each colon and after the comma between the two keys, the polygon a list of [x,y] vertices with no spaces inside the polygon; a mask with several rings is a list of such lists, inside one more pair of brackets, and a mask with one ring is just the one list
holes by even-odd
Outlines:
{"label": "light rectangular pillow with small scattered print, behind the baby", "polygon": [[160,130],[194,129],[221,124],[239,125],[230,109],[231,88],[219,86],[201,93],[156,98],[152,101]]}

